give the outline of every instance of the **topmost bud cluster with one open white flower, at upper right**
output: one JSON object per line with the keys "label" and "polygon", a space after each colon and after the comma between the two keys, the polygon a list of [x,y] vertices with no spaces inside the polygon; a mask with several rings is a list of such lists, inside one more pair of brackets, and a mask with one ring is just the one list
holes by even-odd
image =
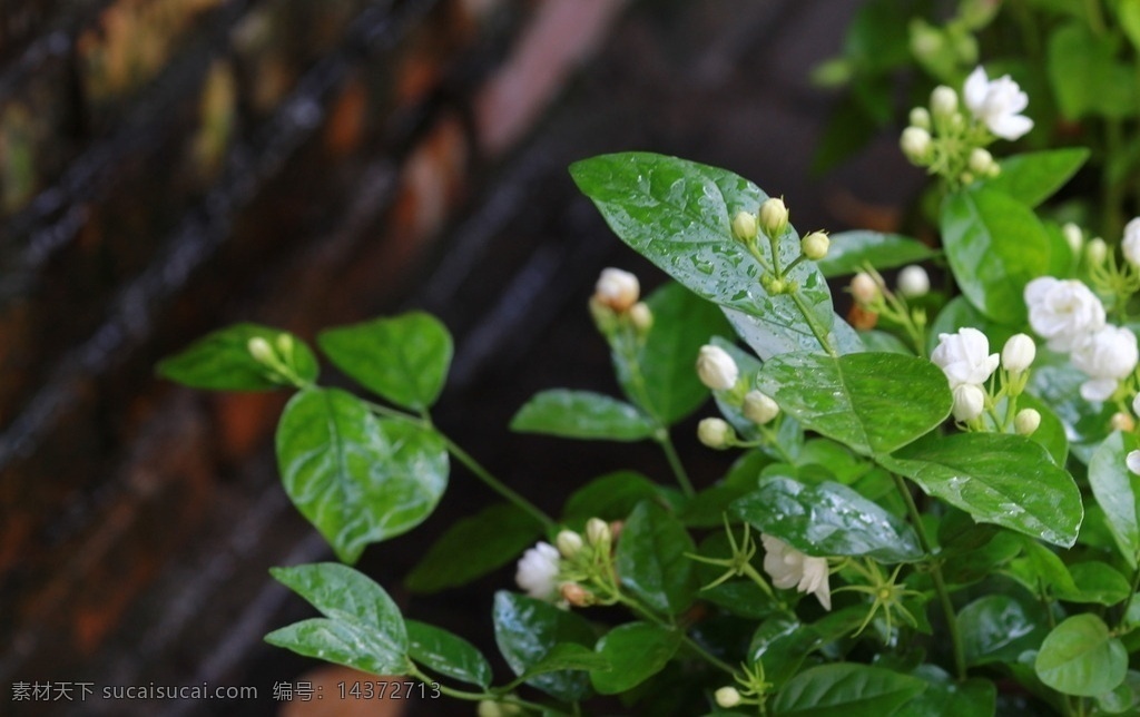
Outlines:
{"label": "topmost bud cluster with one open white flower, at upper right", "polygon": [[929,108],[911,111],[899,147],[911,163],[954,187],[996,177],[1001,168],[986,146],[996,138],[1018,139],[1033,129],[1033,120],[1020,114],[1028,103],[1009,75],[990,80],[978,67],[962,89],[967,113],[961,111],[953,88],[935,88]]}

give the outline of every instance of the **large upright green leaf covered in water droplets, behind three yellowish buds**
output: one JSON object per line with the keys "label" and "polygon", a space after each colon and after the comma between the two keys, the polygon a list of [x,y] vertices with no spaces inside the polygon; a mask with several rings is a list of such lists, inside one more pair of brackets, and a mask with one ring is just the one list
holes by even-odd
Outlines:
{"label": "large upright green leaf covered in water droplets, behind three yellowish buds", "polygon": [[[572,164],[570,174],[613,233],[669,276],[752,317],[775,341],[820,348],[796,303],[806,304],[822,331],[831,328],[831,292],[815,264],[806,261],[788,274],[800,287],[797,299],[769,296],[760,287],[760,264],[733,239],[732,217],[756,212],[767,198],[756,185],[722,169],[649,153],[592,157]],[[767,242],[759,247],[771,262]],[[799,253],[799,238],[789,227],[779,242],[781,264]]]}

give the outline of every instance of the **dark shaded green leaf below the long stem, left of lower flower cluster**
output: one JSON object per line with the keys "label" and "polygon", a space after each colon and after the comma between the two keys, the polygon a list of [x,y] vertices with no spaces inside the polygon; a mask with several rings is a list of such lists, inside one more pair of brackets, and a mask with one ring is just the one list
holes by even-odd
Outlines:
{"label": "dark shaded green leaf below the long stem, left of lower flower cluster", "polygon": [[510,503],[488,506],[448,528],[404,584],[413,593],[466,585],[518,560],[542,535],[542,524],[519,507]]}

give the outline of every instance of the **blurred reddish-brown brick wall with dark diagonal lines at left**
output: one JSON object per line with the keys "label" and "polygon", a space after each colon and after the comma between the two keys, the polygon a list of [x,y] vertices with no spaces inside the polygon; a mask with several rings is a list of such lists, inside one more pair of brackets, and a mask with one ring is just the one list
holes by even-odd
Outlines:
{"label": "blurred reddish-brown brick wall with dark diagonal lines at left", "polygon": [[622,5],[3,3],[0,699],[220,679],[260,641],[261,565],[324,555],[282,520],[282,399],[152,366],[228,321],[397,303]]}

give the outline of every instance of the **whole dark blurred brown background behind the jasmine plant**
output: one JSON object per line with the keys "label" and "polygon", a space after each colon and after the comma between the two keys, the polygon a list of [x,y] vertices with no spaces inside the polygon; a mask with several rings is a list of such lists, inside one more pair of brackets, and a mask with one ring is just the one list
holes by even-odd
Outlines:
{"label": "whole dark blurred brown background behind the jasmine plant", "polygon": [[[784,195],[801,230],[891,228],[921,179],[893,135],[828,174],[807,169],[833,101],[808,73],[840,51],[858,5],[5,0],[0,714],[350,714],[271,696],[275,682],[337,675],[261,641],[310,614],[268,568],[331,559],[278,482],[286,397],[153,373],[227,324],[312,339],[432,311],[456,339],[437,422],[497,475],[552,512],[608,471],[666,479],[652,446],[506,430],[538,390],[617,391],[586,311],[603,267],[662,279],[565,168],[675,154]],[[708,484],[727,458],[694,425],[678,442]],[[433,596],[400,581],[491,498],[455,467],[437,513],[360,564],[406,614],[489,653],[491,594],[513,587],[513,567]],[[83,682],[260,696],[59,695]],[[17,683],[55,689],[16,702]]]}

